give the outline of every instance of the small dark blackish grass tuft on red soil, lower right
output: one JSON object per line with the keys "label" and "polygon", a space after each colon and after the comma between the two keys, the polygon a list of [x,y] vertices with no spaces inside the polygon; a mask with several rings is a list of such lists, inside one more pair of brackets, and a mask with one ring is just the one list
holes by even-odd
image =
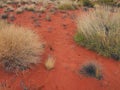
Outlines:
{"label": "small dark blackish grass tuft on red soil, lower right", "polygon": [[80,70],[80,73],[86,76],[95,77],[99,80],[102,79],[101,68],[95,62],[89,62],[84,64]]}

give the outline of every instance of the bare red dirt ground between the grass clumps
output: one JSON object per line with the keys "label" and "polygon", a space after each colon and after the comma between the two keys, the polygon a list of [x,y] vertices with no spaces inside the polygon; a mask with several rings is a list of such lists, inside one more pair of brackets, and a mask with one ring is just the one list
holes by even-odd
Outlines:
{"label": "bare red dirt ground between the grass clumps", "polygon": [[[120,62],[102,57],[74,42],[76,24],[73,17],[78,13],[82,14],[82,11],[15,15],[13,23],[35,30],[46,42],[46,49],[41,63],[22,74],[7,73],[0,68],[0,82],[7,83],[12,90],[26,90],[23,89],[25,86],[31,90],[120,90]],[[51,21],[45,20],[46,15],[50,15]],[[40,26],[35,22],[39,22]],[[50,50],[51,47],[53,50]],[[49,55],[56,59],[55,68],[51,71],[44,67]],[[79,74],[81,65],[89,61],[101,65],[102,80]]]}

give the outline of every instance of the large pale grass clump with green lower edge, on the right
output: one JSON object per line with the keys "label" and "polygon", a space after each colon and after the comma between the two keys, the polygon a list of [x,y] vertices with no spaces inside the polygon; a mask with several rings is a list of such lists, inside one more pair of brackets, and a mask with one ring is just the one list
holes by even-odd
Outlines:
{"label": "large pale grass clump with green lower edge, on the right", "polygon": [[120,60],[120,10],[100,8],[77,20],[74,39],[81,46]]}

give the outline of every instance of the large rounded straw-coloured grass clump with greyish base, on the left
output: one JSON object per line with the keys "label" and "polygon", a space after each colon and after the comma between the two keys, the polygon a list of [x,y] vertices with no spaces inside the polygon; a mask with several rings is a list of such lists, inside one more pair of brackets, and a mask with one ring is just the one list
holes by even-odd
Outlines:
{"label": "large rounded straw-coloured grass clump with greyish base, on the left", "polygon": [[4,26],[6,27],[0,27],[0,63],[5,70],[25,70],[31,64],[39,63],[43,52],[39,36],[22,27]]}

